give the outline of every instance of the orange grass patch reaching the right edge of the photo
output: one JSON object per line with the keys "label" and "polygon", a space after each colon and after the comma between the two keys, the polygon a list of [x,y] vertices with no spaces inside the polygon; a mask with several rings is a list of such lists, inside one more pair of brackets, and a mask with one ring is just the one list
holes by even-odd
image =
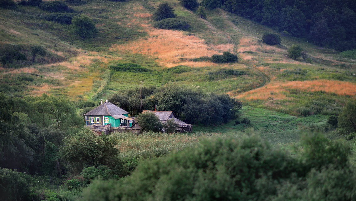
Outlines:
{"label": "orange grass patch reaching the right edge of the photo", "polygon": [[285,99],[283,94],[287,89],[300,89],[308,92],[325,91],[326,93],[335,93],[337,95],[356,95],[356,84],[351,82],[334,81],[334,80],[314,80],[314,81],[291,81],[291,82],[274,82],[269,83],[261,88],[253,89],[245,92],[236,98],[244,98],[247,100],[267,100]]}

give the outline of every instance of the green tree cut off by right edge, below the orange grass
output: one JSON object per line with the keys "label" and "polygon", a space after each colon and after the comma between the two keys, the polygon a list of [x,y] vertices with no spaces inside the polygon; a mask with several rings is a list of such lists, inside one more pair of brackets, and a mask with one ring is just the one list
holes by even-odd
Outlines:
{"label": "green tree cut off by right edge, below the orange grass", "polygon": [[356,132],[356,101],[350,100],[346,103],[344,110],[339,115],[337,127],[344,128],[349,133]]}

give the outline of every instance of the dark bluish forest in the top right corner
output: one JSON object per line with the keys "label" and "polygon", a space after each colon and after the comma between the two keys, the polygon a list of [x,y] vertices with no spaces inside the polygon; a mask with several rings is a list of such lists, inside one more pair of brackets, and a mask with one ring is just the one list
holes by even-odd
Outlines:
{"label": "dark bluish forest in the top right corner", "polygon": [[353,0],[203,0],[316,45],[351,50],[356,47],[356,4]]}

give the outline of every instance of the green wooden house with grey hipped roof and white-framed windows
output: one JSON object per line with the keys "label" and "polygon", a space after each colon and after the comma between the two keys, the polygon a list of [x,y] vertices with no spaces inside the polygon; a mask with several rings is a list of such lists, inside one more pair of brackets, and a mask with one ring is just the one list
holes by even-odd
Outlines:
{"label": "green wooden house with grey hipped roof and white-framed windows", "polygon": [[131,127],[134,119],[128,117],[128,115],[129,112],[109,103],[108,100],[105,103],[101,100],[101,104],[98,107],[84,114],[87,126],[110,125],[110,127]]}

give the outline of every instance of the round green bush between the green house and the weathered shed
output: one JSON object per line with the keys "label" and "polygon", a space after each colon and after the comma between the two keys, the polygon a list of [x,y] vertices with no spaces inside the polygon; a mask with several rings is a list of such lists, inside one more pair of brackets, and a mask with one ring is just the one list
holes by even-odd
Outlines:
{"label": "round green bush between the green house and the weathered shed", "polygon": [[162,124],[159,122],[158,117],[151,112],[137,115],[137,123],[140,125],[142,130],[146,132],[150,130],[153,132],[159,132],[162,129]]}

